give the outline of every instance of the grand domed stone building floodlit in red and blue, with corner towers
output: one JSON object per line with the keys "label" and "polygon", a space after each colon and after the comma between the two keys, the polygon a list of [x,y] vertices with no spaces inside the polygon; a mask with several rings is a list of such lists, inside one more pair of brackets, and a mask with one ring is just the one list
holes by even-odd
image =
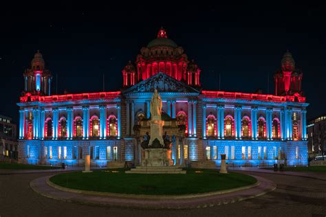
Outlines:
{"label": "grand domed stone building floodlit in red and blue, with corner towers", "polygon": [[[302,73],[290,52],[275,73],[276,95],[204,91],[194,60],[164,29],[122,69],[121,91],[50,95],[51,73],[37,52],[24,73],[20,98],[19,159],[24,163],[93,165],[142,159],[140,124],[150,119],[154,89],[163,100],[164,126],[173,133],[175,164],[226,161],[232,165],[307,164]],[[168,123],[168,122],[166,122]],[[170,123],[170,122],[169,122]],[[142,132],[143,133],[143,132]]]}

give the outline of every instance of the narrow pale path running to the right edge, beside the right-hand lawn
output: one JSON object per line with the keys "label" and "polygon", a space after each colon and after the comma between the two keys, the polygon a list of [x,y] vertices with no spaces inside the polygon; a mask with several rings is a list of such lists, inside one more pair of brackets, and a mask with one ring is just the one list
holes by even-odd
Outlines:
{"label": "narrow pale path running to the right edge, beside the right-hand lawn", "polygon": [[263,168],[257,168],[257,167],[235,167],[235,168],[230,167],[227,169],[229,171],[261,172],[261,173],[278,174],[278,175],[285,175],[285,176],[300,176],[304,178],[319,179],[322,181],[326,181],[326,173],[324,172],[274,171],[274,170],[265,170]]}

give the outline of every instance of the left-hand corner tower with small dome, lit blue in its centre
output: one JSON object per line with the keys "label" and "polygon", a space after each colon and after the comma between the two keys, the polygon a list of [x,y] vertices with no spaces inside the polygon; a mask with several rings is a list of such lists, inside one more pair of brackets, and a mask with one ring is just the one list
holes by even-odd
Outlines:
{"label": "left-hand corner tower with small dome, lit blue in its centre", "polygon": [[45,62],[39,50],[30,63],[30,69],[26,69],[24,76],[24,92],[32,95],[50,95],[51,72],[45,69]]}

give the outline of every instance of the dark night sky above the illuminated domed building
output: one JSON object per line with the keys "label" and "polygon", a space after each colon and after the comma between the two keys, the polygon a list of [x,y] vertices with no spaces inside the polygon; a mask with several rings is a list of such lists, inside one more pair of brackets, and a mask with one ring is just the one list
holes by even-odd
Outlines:
{"label": "dark night sky above the illuminated domed building", "polygon": [[[202,69],[207,90],[274,93],[274,71],[289,49],[303,69],[307,117],[326,113],[325,21],[322,5],[296,1],[252,5],[100,5],[54,1],[1,6],[0,114],[18,120],[23,71],[37,49],[52,71],[52,93],[122,87],[121,70],[161,25]],[[274,2],[274,1],[270,1]]]}

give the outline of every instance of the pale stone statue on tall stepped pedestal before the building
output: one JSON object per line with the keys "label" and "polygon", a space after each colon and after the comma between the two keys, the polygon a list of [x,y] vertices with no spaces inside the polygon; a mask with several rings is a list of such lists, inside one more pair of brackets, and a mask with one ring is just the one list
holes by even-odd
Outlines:
{"label": "pale stone statue on tall stepped pedestal before the building", "polygon": [[151,120],[150,135],[146,133],[144,135],[144,141],[142,141],[142,149],[144,150],[144,159],[141,161],[141,166],[127,173],[178,173],[184,174],[185,170],[173,166],[171,159],[171,141],[169,137],[164,135],[163,139],[163,126],[162,121],[162,98],[155,89],[151,98],[150,104]]}

